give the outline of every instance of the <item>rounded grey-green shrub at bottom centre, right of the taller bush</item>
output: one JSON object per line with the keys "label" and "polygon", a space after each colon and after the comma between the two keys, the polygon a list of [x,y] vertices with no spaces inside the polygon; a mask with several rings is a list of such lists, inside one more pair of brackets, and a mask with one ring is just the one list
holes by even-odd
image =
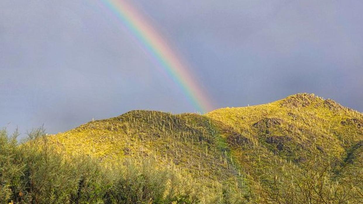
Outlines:
{"label": "rounded grey-green shrub at bottom centre, right of the taller bush", "polygon": [[113,203],[199,203],[188,178],[154,160],[127,159],[114,170],[109,197]]}

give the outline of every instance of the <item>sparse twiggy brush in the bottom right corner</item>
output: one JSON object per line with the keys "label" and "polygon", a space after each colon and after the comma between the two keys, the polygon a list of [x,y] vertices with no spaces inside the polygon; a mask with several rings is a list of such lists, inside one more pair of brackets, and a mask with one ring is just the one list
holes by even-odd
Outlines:
{"label": "sparse twiggy brush in the bottom right corner", "polygon": [[[258,190],[264,203],[361,203],[363,195],[356,183],[359,177],[338,178],[329,166],[310,164],[284,179],[276,176]],[[315,166],[312,168],[312,166]]]}

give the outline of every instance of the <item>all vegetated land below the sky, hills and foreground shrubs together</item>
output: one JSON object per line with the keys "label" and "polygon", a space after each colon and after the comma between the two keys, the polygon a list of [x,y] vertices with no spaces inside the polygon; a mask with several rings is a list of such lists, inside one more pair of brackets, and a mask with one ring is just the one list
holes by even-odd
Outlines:
{"label": "all vegetated land below the sky, hills and foreground shrubs together", "polygon": [[2,203],[363,203],[363,114],[312,94],[40,133],[1,133]]}

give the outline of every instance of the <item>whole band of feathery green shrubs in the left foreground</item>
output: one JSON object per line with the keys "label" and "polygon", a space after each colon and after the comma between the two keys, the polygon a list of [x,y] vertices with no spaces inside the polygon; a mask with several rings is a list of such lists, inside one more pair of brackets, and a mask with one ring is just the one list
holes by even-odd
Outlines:
{"label": "whole band of feathery green shrubs in the left foreground", "polygon": [[48,145],[44,129],[17,142],[0,131],[0,203],[199,203],[187,177],[155,161],[126,160],[112,167]]}

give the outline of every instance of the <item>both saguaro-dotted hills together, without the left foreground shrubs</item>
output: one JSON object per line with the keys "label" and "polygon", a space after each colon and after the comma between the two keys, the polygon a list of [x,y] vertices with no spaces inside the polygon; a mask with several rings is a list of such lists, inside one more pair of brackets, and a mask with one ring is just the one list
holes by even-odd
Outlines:
{"label": "both saguaro-dotted hills together, without the left foreground shrubs", "polygon": [[106,167],[155,159],[200,186],[202,203],[363,201],[363,115],[312,94],[205,115],[131,111],[49,141]]}

